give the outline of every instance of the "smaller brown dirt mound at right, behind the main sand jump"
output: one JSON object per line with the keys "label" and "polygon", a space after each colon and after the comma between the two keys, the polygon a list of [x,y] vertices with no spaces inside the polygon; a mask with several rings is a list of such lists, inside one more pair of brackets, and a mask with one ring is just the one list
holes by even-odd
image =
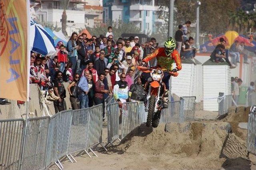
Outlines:
{"label": "smaller brown dirt mound at right, behind the main sand jump", "polygon": [[238,137],[246,140],[247,130],[240,129],[238,124],[240,122],[248,122],[248,115],[250,112],[250,107],[244,109],[244,106],[240,107],[230,107],[228,114],[221,121],[229,122],[232,127],[232,132],[234,132]]}

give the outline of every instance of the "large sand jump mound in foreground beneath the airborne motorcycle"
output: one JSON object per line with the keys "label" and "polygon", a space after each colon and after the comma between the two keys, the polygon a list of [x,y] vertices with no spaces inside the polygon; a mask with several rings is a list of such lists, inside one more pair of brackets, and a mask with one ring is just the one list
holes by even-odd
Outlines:
{"label": "large sand jump mound in foreground beneath the airborne motorcycle", "polygon": [[246,143],[229,131],[226,122],[167,123],[155,129],[142,124],[115,149],[124,155],[154,157],[152,161],[156,156],[164,160],[179,158],[172,162],[172,168],[181,168],[180,164],[182,168],[221,168],[234,159],[248,164]]}

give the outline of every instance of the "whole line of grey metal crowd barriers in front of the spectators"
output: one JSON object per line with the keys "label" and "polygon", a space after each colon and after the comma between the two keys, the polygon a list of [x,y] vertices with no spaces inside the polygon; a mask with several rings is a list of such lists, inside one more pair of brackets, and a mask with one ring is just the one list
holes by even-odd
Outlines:
{"label": "whole line of grey metal crowd barriers in front of the spectators", "polygon": [[[162,110],[160,123],[191,120],[190,115],[184,114],[184,109],[190,108],[184,105],[184,101],[190,106],[194,100],[181,98],[180,101],[169,102],[169,108]],[[143,102],[124,103],[121,111],[118,103],[107,106],[107,145],[120,141],[146,122]],[[0,169],[46,169],[52,164],[63,169],[60,162],[63,157],[76,162],[74,154],[85,152],[90,156],[89,152],[92,152],[97,156],[93,149],[102,145],[102,112],[100,104],[61,111],[52,117],[29,118],[26,122],[23,119],[1,120]]]}

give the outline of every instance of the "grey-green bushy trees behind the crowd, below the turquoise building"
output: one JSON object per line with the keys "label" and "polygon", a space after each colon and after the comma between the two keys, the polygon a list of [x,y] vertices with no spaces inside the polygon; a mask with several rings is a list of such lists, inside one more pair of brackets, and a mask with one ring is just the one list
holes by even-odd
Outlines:
{"label": "grey-green bushy trees behind the crowd, below the turquoise building", "polygon": [[106,35],[108,31],[108,26],[112,26],[112,31],[114,33],[114,39],[118,39],[121,37],[122,33],[142,33],[134,23],[125,23],[121,19],[116,21],[108,21],[105,26],[95,27],[95,28],[86,28],[90,32],[91,35]]}

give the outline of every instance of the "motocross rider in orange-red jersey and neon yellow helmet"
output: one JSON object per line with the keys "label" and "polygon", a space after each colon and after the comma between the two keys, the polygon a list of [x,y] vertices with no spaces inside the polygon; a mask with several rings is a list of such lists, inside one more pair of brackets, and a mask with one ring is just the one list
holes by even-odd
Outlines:
{"label": "motocross rider in orange-red jersey and neon yellow helmet", "polygon": [[[169,37],[165,43],[164,47],[161,47],[159,49],[156,49],[154,53],[149,54],[145,57],[145,59],[142,60],[142,66],[146,64],[146,62],[150,61],[154,57],[157,59],[157,67],[161,68],[161,70],[164,71],[164,77],[162,79],[162,82],[164,82],[166,89],[164,90],[163,94],[163,108],[168,108],[168,92],[169,92],[169,79],[170,79],[170,71],[177,72],[181,70],[181,61],[180,61],[180,55],[178,51],[175,49],[176,43],[172,39],[172,37]],[[176,68],[172,68],[172,63],[176,63]]]}

